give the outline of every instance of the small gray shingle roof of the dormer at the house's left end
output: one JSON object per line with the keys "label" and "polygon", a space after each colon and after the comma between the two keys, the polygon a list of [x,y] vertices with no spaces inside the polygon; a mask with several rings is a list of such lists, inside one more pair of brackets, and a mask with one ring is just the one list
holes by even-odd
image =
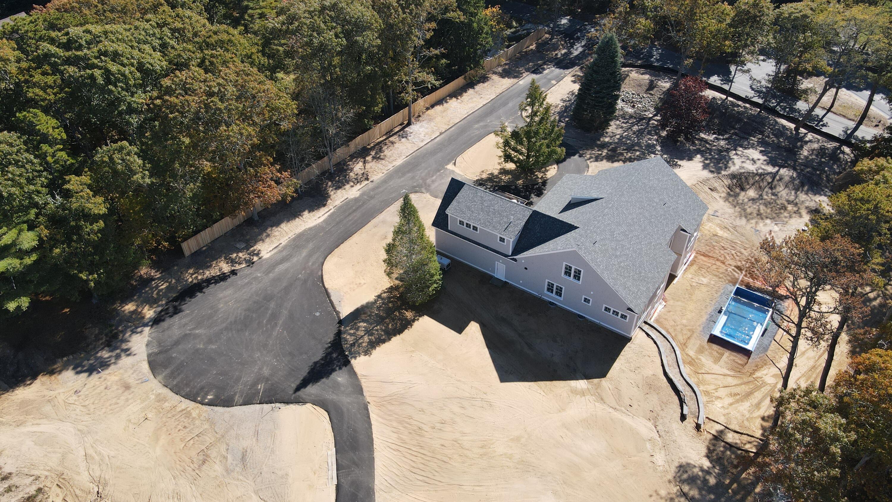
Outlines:
{"label": "small gray shingle roof of the dormer at the house's left end", "polygon": [[524,228],[533,209],[497,196],[483,188],[465,185],[458,191],[446,213],[461,220],[476,223],[507,238],[515,238]]}

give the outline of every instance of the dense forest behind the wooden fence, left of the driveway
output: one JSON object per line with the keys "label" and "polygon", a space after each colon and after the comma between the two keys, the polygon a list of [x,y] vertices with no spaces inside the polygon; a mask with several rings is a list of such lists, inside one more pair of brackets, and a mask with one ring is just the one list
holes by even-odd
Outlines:
{"label": "dense forest behind the wooden fence, left of the driveway", "polygon": [[0,309],[119,291],[503,46],[483,0],[57,0],[0,28]]}

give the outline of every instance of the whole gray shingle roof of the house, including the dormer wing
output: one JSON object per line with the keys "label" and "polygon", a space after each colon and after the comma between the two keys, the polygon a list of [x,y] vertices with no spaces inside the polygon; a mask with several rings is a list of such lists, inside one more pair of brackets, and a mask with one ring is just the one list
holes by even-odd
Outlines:
{"label": "whole gray shingle roof of the house, including the dormer wing", "polygon": [[[435,226],[448,228],[440,213],[493,231],[520,225],[512,256],[576,249],[639,314],[675,260],[669,248],[675,231],[698,230],[707,209],[660,157],[592,175],[567,174],[534,210],[458,180],[450,189],[455,197],[444,197]],[[571,203],[573,197],[599,198]]]}

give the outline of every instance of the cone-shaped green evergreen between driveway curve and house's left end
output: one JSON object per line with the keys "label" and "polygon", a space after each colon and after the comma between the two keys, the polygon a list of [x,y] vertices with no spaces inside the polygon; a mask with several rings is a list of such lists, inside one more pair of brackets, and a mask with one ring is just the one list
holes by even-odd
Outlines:
{"label": "cone-shaped green evergreen between driveway curve and house's left end", "polygon": [[391,241],[384,245],[384,255],[384,272],[400,282],[400,294],[410,304],[421,305],[440,290],[437,252],[409,194],[402,197],[400,221],[393,227]]}

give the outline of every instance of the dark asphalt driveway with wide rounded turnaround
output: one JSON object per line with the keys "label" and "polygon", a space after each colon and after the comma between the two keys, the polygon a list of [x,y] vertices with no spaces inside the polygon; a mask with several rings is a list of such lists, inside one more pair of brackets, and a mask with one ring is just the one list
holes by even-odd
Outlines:
{"label": "dark asphalt driveway with wide rounded turnaround", "polygon": [[444,166],[498,129],[500,121],[520,120],[517,105],[531,78],[550,88],[582,55],[578,41],[558,65],[533,71],[270,255],[180,293],[149,331],[146,347],[155,377],[180,396],[207,405],[322,407],[335,434],[337,500],[374,500],[368,404],[343,353],[338,316],[323,286],[326,256],[404,192],[442,197],[450,176]]}

